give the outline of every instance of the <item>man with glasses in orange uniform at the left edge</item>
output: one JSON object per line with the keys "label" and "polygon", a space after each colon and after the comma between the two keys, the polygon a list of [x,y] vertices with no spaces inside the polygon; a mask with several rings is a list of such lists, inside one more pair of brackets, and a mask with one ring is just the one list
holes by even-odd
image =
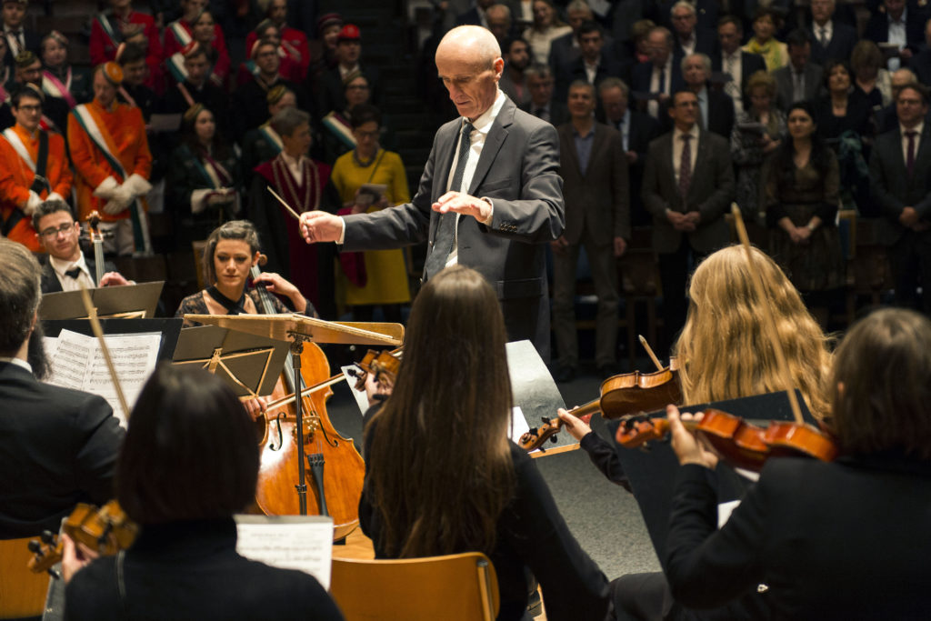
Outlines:
{"label": "man with glasses in orange uniform at the left edge", "polygon": [[16,123],[0,138],[0,216],[3,235],[37,252],[30,217],[43,200],[70,196],[71,168],[60,134],[39,127],[43,95],[25,85],[10,99]]}

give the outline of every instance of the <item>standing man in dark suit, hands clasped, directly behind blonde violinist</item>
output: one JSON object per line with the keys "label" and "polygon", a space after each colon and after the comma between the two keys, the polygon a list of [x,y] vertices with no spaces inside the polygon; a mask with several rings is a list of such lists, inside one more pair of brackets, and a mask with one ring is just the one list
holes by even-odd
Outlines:
{"label": "standing man in dark suit, hands clasped, directly behind blonde violinist", "polygon": [[670,342],[685,324],[688,275],[730,237],[724,222],[734,199],[730,142],[698,127],[699,110],[693,91],[673,96],[672,131],[650,143],[643,172],[643,205],[653,215]]}

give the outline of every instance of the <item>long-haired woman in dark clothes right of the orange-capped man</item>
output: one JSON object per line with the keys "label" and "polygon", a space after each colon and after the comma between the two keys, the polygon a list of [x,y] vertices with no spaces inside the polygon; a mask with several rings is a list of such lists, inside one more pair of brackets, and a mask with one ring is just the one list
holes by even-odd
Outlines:
{"label": "long-haired woman in dark clothes right of the orange-capped man", "polygon": [[184,113],[181,145],[169,159],[167,204],[182,244],[206,239],[242,209],[242,175],[213,112],[196,103]]}

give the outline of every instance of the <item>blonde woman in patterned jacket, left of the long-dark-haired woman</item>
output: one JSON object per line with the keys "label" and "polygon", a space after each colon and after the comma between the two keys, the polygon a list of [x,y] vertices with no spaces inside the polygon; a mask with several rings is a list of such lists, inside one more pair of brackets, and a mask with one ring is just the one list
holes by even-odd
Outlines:
{"label": "blonde woman in patterned jacket, left of the long-dark-haired woman", "polygon": [[736,199],[744,218],[756,222],[760,205],[760,169],[786,136],[786,115],[776,107],[776,80],[765,71],[747,81],[750,106],[737,113],[731,132],[731,159],[737,171]]}

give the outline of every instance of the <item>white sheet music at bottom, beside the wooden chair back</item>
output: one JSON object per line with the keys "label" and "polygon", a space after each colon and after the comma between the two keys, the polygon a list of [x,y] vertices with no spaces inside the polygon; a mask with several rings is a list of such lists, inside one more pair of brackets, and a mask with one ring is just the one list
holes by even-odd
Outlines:
{"label": "white sheet music at bottom, beside the wooden chair back", "polygon": [[311,574],[330,589],[333,520],[321,516],[236,516],[236,552]]}

